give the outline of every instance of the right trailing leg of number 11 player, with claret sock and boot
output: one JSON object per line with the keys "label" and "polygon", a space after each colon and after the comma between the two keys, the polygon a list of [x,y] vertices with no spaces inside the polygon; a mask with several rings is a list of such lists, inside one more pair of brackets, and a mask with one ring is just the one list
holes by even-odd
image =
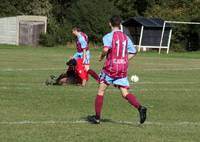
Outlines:
{"label": "right trailing leg of number 11 player, with claret sock and boot", "polygon": [[135,108],[138,109],[139,115],[140,115],[140,123],[141,123],[141,124],[144,123],[145,120],[146,120],[146,111],[147,111],[147,108],[144,107],[144,106],[142,106],[142,105],[139,103],[139,101],[137,100],[136,96],[133,95],[133,94],[130,94],[130,93],[128,92],[128,89],[122,88],[122,87],[121,87],[120,90],[121,90],[122,96],[123,96],[126,100],[128,100],[128,102],[129,102],[132,106],[134,106]]}

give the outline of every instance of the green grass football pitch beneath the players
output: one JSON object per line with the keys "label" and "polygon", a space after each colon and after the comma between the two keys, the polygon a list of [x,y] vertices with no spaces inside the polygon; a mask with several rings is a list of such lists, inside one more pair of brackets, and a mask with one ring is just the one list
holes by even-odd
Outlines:
{"label": "green grass football pitch beneath the players", "polygon": [[[1,142],[199,142],[200,52],[138,53],[129,62],[130,92],[148,108],[139,116],[110,86],[106,90],[102,122],[86,121],[94,114],[98,84],[86,87],[46,86],[50,75],[65,71],[69,47],[0,46]],[[100,49],[91,48],[91,68],[101,71]]]}

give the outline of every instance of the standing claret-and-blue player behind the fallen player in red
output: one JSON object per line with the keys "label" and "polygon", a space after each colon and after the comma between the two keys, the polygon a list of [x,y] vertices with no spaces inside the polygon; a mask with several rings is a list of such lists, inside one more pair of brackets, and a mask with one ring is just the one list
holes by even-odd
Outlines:
{"label": "standing claret-and-blue player behind the fallen player in red", "polygon": [[76,48],[77,52],[74,54],[73,58],[83,59],[83,64],[85,66],[86,71],[89,70],[90,63],[90,51],[88,45],[88,36],[81,32],[80,28],[74,27],[72,29],[72,34],[76,36]]}

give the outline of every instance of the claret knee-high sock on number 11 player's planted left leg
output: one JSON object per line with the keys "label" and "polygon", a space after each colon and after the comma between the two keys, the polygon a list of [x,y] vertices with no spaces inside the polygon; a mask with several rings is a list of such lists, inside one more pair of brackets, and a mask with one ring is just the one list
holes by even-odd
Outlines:
{"label": "claret knee-high sock on number 11 player's planted left leg", "polygon": [[101,117],[102,106],[103,106],[103,96],[97,95],[95,99],[95,112],[97,119],[100,119]]}

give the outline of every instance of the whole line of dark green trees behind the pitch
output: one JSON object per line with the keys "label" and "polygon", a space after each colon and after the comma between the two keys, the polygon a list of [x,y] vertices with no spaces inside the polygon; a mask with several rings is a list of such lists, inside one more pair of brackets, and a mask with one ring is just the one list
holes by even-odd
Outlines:
{"label": "whole line of dark green trees behind the pitch", "polygon": [[[72,41],[71,28],[79,26],[92,42],[101,42],[109,32],[108,19],[135,16],[164,20],[200,21],[200,0],[0,0],[0,17],[44,15],[48,17],[47,34],[41,43],[47,46]],[[200,50],[199,25],[173,27],[174,50]]]}

